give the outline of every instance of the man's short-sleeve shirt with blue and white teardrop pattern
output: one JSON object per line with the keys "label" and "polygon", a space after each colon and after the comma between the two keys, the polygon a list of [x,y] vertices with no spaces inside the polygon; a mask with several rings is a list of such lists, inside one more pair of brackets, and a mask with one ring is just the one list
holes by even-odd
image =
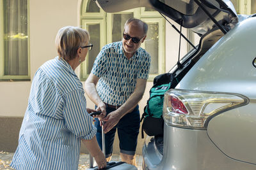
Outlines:
{"label": "man's short-sleeve shirt with blue and white teardrop pattern", "polygon": [[127,59],[122,41],[104,46],[92,68],[92,73],[100,78],[97,91],[102,101],[115,106],[124,104],[134,92],[136,80],[148,79],[150,60],[141,47]]}

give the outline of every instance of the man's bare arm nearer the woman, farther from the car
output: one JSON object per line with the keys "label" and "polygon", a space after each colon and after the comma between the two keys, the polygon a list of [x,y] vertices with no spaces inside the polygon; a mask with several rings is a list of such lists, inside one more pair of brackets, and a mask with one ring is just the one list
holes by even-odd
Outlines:
{"label": "man's bare arm nearer the woman, farther from the car", "polygon": [[84,83],[84,90],[87,94],[87,96],[95,103],[98,108],[97,111],[101,110],[102,114],[101,117],[104,117],[106,115],[106,106],[104,102],[100,99],[100,96],[96,90],[96,85],[99,81],[99,78],[95,76],[94,74],[90,73],[87,80]]}

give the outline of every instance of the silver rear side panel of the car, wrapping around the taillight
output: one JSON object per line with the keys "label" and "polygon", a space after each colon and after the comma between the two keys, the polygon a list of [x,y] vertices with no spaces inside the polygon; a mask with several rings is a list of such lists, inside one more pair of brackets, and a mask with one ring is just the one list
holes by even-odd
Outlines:
{"label": "silver rear side panel of the car, wrapping around the taillight", "polygon": [[[256,164],[256,18],[244,20],[223,36],[189,70],[176,89],[242,94],[250,103],[210,120],[212,142],[232,159]],[[239,134],[239,136],[237,136]],[[246,147],[245,147],[246,146]],[[256,168],[256,166],[255,166]]]}

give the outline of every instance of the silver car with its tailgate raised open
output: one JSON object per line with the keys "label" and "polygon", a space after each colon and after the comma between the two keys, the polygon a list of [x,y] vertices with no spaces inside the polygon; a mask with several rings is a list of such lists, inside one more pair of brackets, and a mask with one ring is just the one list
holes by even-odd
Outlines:
{"label": "silver car with its tailgate raised open", "polygon": [[256,17],[228,0],[97,3],[153,8],[200,36],[171,71],[179,83],[164,95],[163,136],[145,139],[143,169],[256,169]]}

